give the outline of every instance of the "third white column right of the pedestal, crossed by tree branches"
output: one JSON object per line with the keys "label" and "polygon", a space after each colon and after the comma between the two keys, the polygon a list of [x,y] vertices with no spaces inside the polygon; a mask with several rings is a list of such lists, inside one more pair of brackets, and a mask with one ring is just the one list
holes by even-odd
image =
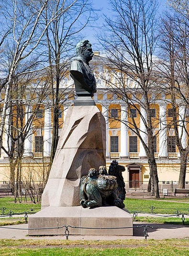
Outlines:
{"label": "third white column right of the pedestal, crossed by tree branches", "polygon": [[[141,107],[141,116],[140,116],[140,135],[143,139],[143,141],[145,142],[145,144],[148,143],[147,141],[147,131],[146,131],[146,125],[145,125],[145,121],[146,121],[146,111],[144,108]],[[142,141],[140,140],[140,153],[139,156],[141,158],[146,157],[146,152],[145,152],[145,148],[142,144]]]}

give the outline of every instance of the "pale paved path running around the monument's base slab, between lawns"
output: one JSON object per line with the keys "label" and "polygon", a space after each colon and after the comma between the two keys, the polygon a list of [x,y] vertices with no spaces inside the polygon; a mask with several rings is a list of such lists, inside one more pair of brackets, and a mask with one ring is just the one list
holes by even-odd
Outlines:
{"label": "pale paved path running around the monument's base slab, between lawns", "polygon": [[[145,239],[144,226],[147,227],[147,239],[166,239],[166,238],[186,238],[189,239],[189,226],[183,225],[170,225],[170,224],[153,224],[153,223],[139,223],[133,222],[133,236],[83,236],[83,235],[70,235],[69,240],[117,240],[117,239]],[[137,227],[143,226],[143,227]],[[179,227],[179,228],[178,228]],[[182,228],[181,228],[182,227]],[[18,229],[15,229],[18,228]],[[20,224],[14,226],[0,227],[0,239],[34,239],[34,240],[66,240],[63,230],[62,236],[28,236],[28,224]],[[24,230],[22,230],[24,229]]]}

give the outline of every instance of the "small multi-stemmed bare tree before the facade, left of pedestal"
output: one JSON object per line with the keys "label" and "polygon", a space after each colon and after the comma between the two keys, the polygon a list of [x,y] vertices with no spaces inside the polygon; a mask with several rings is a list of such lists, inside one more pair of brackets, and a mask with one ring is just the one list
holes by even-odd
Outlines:
{"label": "small multi-stemmed bare tree before the facade, left of pedestal", "polygon": [[[32,88],[33,90],[31,90]],[[44,77],[38,72],[16,76],[10,89],[10,100],[6,112],[5,134],[7,135],[7,141],[3,141],[2,149],[9,158],[10,183],[16,198],[22,183],[24,143],[27,137],[32,136],[36,129],[42,129],[44,126],[43,122],[37,122],[36,127],[32,126],[32,123],[33,121],[36,123],[36,113],[44,99],[46,99],[46,95],[49,94],[48,76]],[[30,99],[27,99],[26,94],[28,94],[29,89]],[[29,105],[31,106],[29,108],[31,109],[30,113],[28,113],[27,107]],[[44,177],[43,182],[45,180],[46,177]]]}

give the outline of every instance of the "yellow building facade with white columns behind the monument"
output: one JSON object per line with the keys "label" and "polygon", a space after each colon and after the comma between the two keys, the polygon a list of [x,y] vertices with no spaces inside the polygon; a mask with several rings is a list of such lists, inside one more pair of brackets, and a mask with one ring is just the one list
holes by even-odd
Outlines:
{"label": "yellow building facade with white columns behind the monument", "polygon": [[[99,62],[100,56],[95,56],[93,66]],[[109,77],[107,78],[107,76]],[[149,166],[148,159],[146,157],[144,146],[142,145],[139,137],[134,133],[132,127],[132,116],[135,123],[140,128],[141,136],[147,144],[147,137],[145,131],[144,120],[138,114],[138,111],[133,107],[130,110],[126,105],[122,97],[114,94],[109,86],[108,81],[112,79],[107,69],[101,67],[99,70],[95,70],[95,76],[97,80],[97,93],[94,96],[94,101],[97,107],[102,112],[106,120],[106,165],[109,167],[111,161],[116,159],[119,164],[125,166],[126,171],[123,172],[123,178],[126,183],[127,189],[147,189],[147,183],[149,181]],[[103,79],[106,78],[106,79]],[[112,83],[116,83],[113,81]],[[131,82],[132,84],[132,82]],[[73,90],[73,81],[69,76],[65,77],[60,85],[60,90],[64,90],[67,94]],[[31,97],[31,92],[27,92],[26,99]],[[131,95],[131,98],[133,96]],[[166,129],[166,125],[172,121],[171,104],[169,97],[161,95],[156,97],[156,91],[152,98],[156,98],[156,102],[153,102],[150,106],[154,133],[156,134],[156,140],[153,142],[155,149],[155,158],[157,163],[157,172],[159,178],[159,188],[162,190],[164,187],[172,188],[178,184],[180,158],[178,148],[175,143],[174,129]],[[22,176],[32,177],[36,182],[41,179],[41,173],[46,172],[49,165],[51,145],[52,145],[52,128],[53,128],[53,116],[51,97],[44,99],[40,104],[40,108],[37,111],[35,119],[30,127],[30,131],[26,139],[24,140],[24,153],[22,158]],[[140,94],[136,96],[138,100]],[[3,100],[3,93],[1,94]],[[165,100],[166,99],[166,100]],[[138,103],[136,103],[138,104]],[[70,98],[60,104],[59,110],[59,133],[64,126],[65,117],[67,115],[67,109],[73,105],[73,98]],[[29,101],[25,102],[25,117],[24,122],[27,122],[30,115],[33,112],[34,105],[29,104]],[[143,117],[145,118],[145,111],[140,105],[137,106],[141,112],[143,111]],[[183,108],[178,109],[180,116],[184,114]],[[132,113],[131,113],[132,112]],[[5,120],[5,132],[3,135],[3,146],[8,148],[8,144],[11,144],[7,136],[7,130],[9,129],[8,117],[10,115],[7,110],[7,119]],[[161,123],[159,120],[161,119]],[[121,121],[123,122],[121,122]],[[127,122],[127,125],[125,124]],[[129,124],[130,123],[130,124]],[[129,126],[130,125],[130,126]],[[164,126],[164,127],[162,127]],[[187,125],[186,125],[187,126]],[[187,127],[188,129],[188,127]],[[182,143],[186,145],[187,134],[182,130]],[[7,154],[2,150],[0,157],[0,183],[9,183],[10,180],[10,161]],[[189,186],[189,167],[186,174],[186,187]]]}

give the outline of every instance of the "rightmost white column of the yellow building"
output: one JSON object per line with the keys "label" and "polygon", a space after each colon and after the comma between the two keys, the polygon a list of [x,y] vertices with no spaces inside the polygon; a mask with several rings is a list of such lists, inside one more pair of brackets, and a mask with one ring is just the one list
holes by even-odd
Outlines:
{"label": "rightmost white column of the yellow building", "polygon": [[183,148],[187,147],[187,134],[186,134],[186,122],[185,122],[185,106],[179,107],[179,126],[178,126],[178,135],[181,139],[181,144]]}

